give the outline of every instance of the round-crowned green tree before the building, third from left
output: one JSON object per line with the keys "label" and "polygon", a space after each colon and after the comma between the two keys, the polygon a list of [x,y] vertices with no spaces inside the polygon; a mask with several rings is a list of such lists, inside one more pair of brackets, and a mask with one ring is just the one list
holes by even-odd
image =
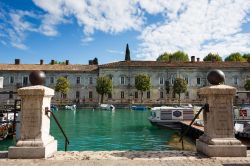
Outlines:
{"label": "round-crowned green tree before the building, third from left", "polygon": [[150,77],[145,74],[139,74],[135,77],[135,88],[141,92],[141,103],[143,98],[143,91],[150,90]]}

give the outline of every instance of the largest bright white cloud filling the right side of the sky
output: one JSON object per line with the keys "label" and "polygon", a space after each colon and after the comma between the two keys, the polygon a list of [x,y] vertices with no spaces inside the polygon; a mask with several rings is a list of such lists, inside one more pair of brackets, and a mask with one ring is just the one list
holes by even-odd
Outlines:
{"label": "largest bright white cloud filling the right side of the sky", "polygon": [[[171,1],[168,2],[166,9],[172,6]],[[171,17],[142,31],[138,58],[155,60],[165,51],[177,50],[200,58],[209,52],[218,52],[222,56],[236,51],[250,52],[250,33],[242,32],[241,28],[249,21],[250,1],[187,0],[176,3],[173,6],[177,8],[173,11],[177,12],[162,11],[163,3],[161,8],[156,7],[159,12],[166,12],[166,16],[170,13]]]}

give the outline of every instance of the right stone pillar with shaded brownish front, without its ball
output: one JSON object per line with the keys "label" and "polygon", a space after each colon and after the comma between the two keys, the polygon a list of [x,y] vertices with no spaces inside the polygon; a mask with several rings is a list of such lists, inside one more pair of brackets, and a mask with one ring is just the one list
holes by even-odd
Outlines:
{"label": "right stone pillar with shaded brownish front, without its ball", "polygon": [[199,90],[209,104],[204,111],[204,134],[196,140],[196,149],[209,157],[246,157],[246,146],[234,135],[233,98],[236,89],[214,85]]}

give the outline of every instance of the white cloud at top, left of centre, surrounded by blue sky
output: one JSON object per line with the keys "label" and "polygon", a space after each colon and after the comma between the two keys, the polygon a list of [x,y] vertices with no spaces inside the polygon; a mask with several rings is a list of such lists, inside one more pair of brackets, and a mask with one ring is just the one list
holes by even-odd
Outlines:
{"label": "white cloud at top, left of centre, surrounded by blue sky", "polygon": [[136,2],[127,0],[33,0],[47,12],[42,32],[57,35],[56,25],[69,16],[74,16],[87,38],[95,30],[116,34],[125,30],[138,30],[143,17]]}

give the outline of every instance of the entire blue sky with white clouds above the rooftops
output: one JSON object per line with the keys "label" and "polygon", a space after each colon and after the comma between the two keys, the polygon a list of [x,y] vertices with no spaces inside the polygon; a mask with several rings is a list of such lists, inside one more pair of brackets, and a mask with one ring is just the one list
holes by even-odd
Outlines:
{"label": "entire blue sky with white clouds above the rooftops", "polygon": [[0,63],[250,53],[250,0],[0,0]]}

